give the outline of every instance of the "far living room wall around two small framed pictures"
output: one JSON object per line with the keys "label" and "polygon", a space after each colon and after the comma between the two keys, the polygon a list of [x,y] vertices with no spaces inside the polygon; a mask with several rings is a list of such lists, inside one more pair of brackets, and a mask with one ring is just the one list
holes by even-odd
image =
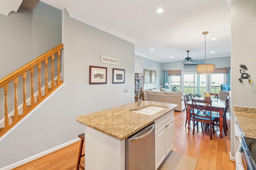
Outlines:
{"label": "far living room wall around two small framed pictures", "polygon": [[140,57],[135,55],[135,72],[142,73],[144,76],[144,69],[146,70],[155,70],[156,71],[156,83],[148,83],[144,84],[144,89],[155,88],[161,86],[161,78],[162,78],[162,68],[161,63],[157,61],[153,61],[150,59],[146,59],[144,57]]}

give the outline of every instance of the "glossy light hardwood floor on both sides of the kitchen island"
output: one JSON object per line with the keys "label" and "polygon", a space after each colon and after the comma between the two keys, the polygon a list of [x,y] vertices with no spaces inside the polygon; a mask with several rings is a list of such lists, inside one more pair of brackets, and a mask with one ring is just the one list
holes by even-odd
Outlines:
{"label": "glossy light hardwood floor on both sides of the kitchen island", "polygon": [[[202,131],[200,125],[192,135],[185,127],[186,111],[174,112],[174,147],[172,150],[196,158],[196,170],[235,170],[235,162],[229,161],[230,152],[230,114],[227,113],[229,130],[227,136],[219,137],[220,129],[210,140],[208,131]],[[223,132],[224,134],[224,132]],[[75,170],[79,142],[57,150],[51,154],[24,164],[15,170]],[[84,158],[82,158],[84,162]]]}

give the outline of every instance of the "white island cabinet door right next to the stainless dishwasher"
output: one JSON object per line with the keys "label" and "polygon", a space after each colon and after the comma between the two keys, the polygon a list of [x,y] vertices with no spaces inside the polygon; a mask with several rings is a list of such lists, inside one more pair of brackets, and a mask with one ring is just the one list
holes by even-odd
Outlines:
{"label": "white island cabinet door right next to the stainless dishwasher", "polygon": [[157,131],[155,132],[155,154],[156,154],[156,169],[158,168],[158,166],[160,166],[160,164],[162,163],[162,161],[164,160],[164,158],[166,157],[166,127],[165,125],[163,125],[162,127],[160,127],[159,129],[157,129]]}

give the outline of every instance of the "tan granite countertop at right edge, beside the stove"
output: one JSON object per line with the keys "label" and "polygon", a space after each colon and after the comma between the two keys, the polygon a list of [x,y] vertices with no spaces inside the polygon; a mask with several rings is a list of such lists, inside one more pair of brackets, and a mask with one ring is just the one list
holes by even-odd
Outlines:
{"label": "tan granite countertop at right edge, beside the stove", "polygon": [[233,111],[244,136],[256,139],[256,108],[234,106]]}

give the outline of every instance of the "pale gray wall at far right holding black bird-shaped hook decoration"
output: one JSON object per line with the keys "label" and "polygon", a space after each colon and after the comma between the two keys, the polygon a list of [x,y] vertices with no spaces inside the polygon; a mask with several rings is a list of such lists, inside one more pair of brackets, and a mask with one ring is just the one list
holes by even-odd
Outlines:
{"label": "pale gray wall at far right holding black bird-shaped hook decoration", "polygon": [[[237,0],[231,3],[231,113],[234,106],[256,107],[256,1]],[[240,64],[246,65],[252,84],[239,82]],[[234,117],[231,117],[231,154],[234,156]]]}

